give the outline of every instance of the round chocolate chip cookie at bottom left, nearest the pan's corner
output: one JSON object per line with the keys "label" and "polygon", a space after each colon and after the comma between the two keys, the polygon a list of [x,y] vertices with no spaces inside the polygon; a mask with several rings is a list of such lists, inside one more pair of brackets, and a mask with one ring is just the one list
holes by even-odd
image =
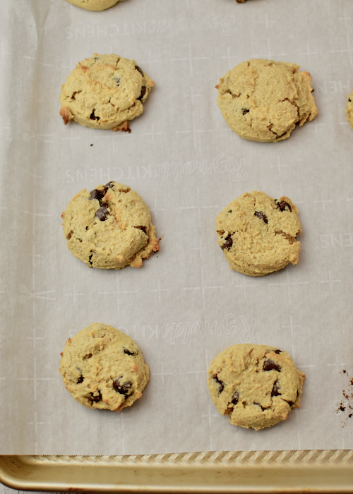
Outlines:
{"label": "round chocolate chip cookie at bottom left, nearest the pan's corner", "polygon": [[112,326],[94,323],[66,342],[59,371],[78,403],[121,411],[142,396],[150,379],[133,339]]}

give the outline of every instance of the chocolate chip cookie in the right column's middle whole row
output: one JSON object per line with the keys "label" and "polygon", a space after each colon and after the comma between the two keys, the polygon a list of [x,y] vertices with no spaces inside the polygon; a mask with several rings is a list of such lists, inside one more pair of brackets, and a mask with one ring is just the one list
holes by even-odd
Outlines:
{"label": "chocolate chip cookie in the right column's middle whole row", "polygon": [[301,223],[287,197],[275,200],[263,192],[246,192],[220,212],[216,224],[225,258],[243,275],[268,275],[298,263]]}

